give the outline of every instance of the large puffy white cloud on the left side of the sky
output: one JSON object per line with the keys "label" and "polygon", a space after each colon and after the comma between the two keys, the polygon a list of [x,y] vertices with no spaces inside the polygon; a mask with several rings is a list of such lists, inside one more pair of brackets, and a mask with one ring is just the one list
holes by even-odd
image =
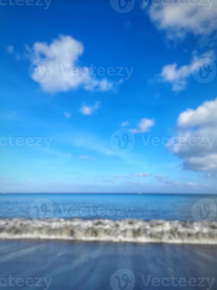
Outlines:
{"label": "large puffy white cloud on the left side of the sky", "polygon": [[31,78],[49,93],[66,92],[80,86],[85,90],[112,90],[112,83],[92,77],[88,67],[80,71],[77,63],[83,52],[83,44],[71,36],[62,35],[50,44],[35,42],[32,50],[27,51],[34,61]]}

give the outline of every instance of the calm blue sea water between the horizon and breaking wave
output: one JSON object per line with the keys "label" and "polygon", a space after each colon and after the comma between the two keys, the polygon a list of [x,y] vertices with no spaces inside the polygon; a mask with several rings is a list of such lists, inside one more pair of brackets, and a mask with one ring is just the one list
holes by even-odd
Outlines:
{"label": "calm blue sea water between the horizon and breaking wave", "polygon": [[217,204],[216,195],[196,194],[1,194],[0,218],[38,218],[33,206],[45,199],[54,218],[194,221],[192,206],[203,198]]}

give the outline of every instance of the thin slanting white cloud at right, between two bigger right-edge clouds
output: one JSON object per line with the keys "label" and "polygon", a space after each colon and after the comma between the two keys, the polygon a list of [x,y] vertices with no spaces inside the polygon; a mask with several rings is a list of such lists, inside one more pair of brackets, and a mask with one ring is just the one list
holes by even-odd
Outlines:
{"label": "thin slanting white cloud at right, between two bigger right-edge clouds", "polygon": [[[192,60],[187,65],[177,66],[177,63],[170,65],[164,65],[160,73],[160,80],[164,83],[170,83],[172,91],[182,91],[185,89],[187,84],[187,78],[195,70],[198,70],[197,66],[203,67],[205,64],[211,65],[212,59],[215,59],[215,53],[213,50],[207,51],[200,57],[194,55]],[[198,61],[197,66],[193,66],[195,61]]]}

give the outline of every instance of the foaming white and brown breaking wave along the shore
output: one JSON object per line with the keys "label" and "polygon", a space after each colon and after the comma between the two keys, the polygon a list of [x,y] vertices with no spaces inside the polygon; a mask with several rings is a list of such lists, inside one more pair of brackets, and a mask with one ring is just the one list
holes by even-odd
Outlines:
{"label": "foaming white and brown breaking wave along the shore", "polygon": [[0,239],[217,244],[217,222],[6,218],[0,219]]}

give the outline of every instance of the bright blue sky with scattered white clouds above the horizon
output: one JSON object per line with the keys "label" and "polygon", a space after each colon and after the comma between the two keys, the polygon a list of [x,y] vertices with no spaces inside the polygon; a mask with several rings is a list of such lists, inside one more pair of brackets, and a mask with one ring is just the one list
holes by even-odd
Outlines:
{"label": "bright blue sky with scattered white clouds above the horizon", "polygon": [[[1,192],[216,193],[216,3],[119,13],[115,1],[2,0]],[[123,134],[129,152],[114,145]],[[197,144],[144,146],[149,135]]]}

